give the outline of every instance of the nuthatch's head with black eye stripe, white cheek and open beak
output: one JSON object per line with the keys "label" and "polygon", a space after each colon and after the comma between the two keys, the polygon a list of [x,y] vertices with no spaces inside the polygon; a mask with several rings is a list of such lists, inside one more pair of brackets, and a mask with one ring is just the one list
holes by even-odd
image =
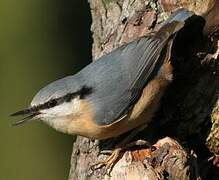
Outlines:
{"label": "nuthatch's head with black eye stripe, white cheek and open beak", "polygon": [[40,119],[55,129],[65,131],[62,127],[64,123],[81,113],[81,100],[92,92],[90,87],[80,85],[78,82],[77,78],[69,76],[42,88],[28,108],[11,114],[11,116],[25,116],[13,125]]}

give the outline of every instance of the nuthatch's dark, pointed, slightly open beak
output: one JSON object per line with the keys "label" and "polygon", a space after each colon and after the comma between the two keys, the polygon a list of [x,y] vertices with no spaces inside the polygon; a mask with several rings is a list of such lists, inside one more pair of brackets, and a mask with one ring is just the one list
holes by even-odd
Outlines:
{"label": "nuthatch's dark, pointed, slightly open beak", "polygon": [[11,114],[10,116],[26,116],[23,119],[15,122],[12,124],[12,126],[17,126],[17,125],[21,125],[24,124],[26,122],[29,122],[33,119],[36,119],[36,116],[39,115],[40,113],[38,111],[36,111],[35,108],[27,108],[27,109],[23,109],[21,111],[17,111],[13,114]]}

